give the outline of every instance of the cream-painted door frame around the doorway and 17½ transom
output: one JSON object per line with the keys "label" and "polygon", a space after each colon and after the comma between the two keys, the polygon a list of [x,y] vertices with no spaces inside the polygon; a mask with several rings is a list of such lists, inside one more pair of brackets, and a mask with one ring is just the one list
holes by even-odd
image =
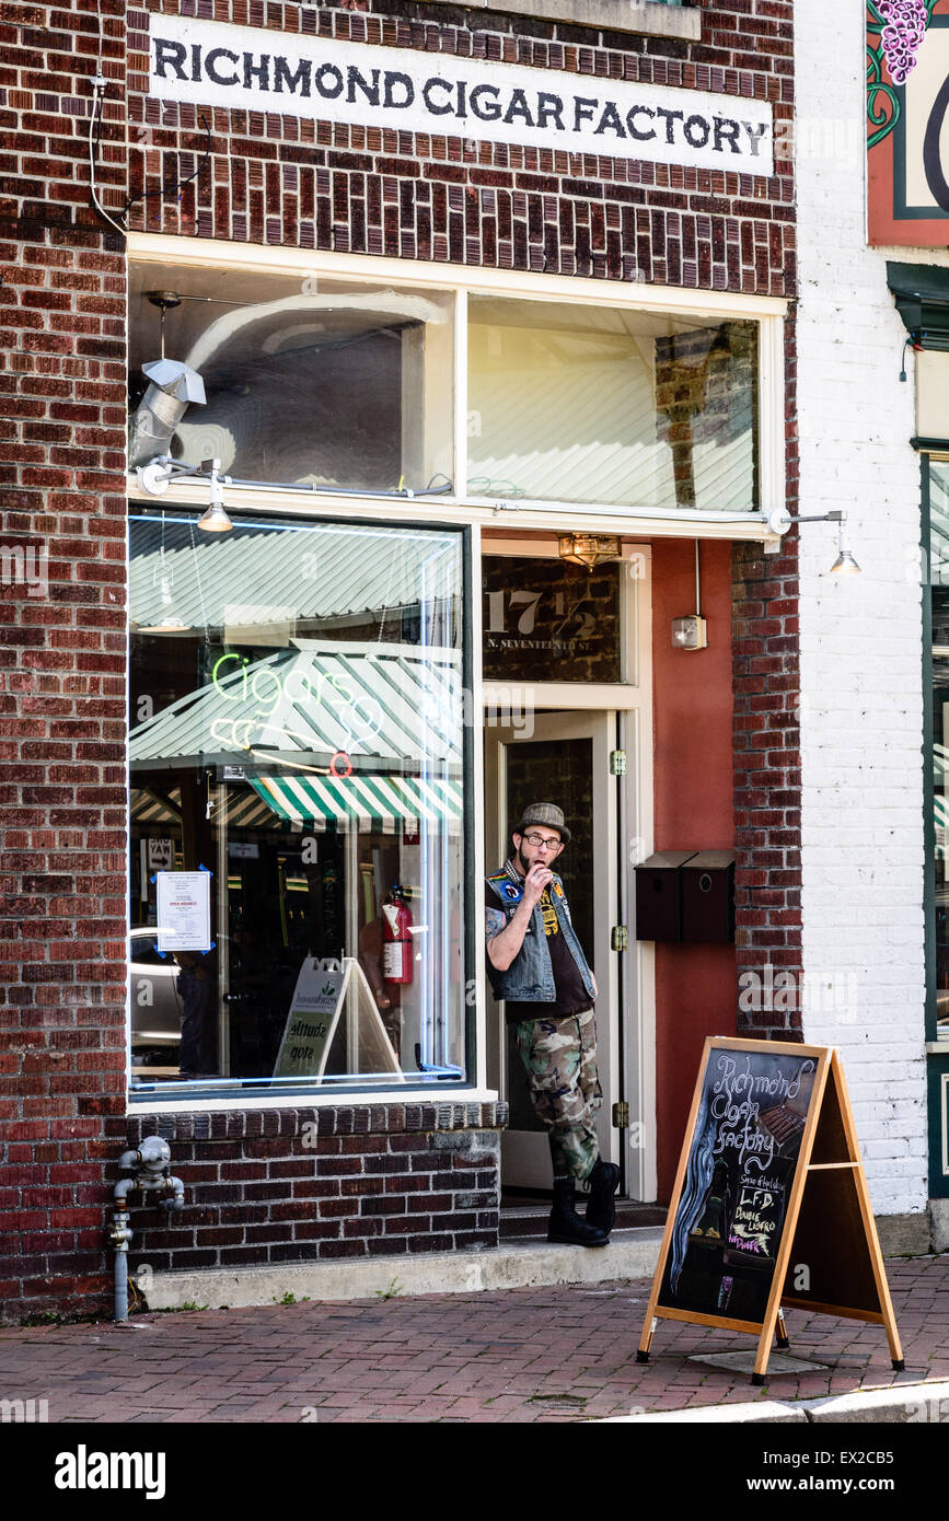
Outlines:
{"label": "cream-painted door frame around the doorway and 17\u00bd transom", "polygon": [[[557,535],[551,532],[505,532],[490,529],[481,535],[482,555],[516,555],[557,558]],[[616,884],[616,917],[611,923],[628,928],[628,951],[610,952],[611,976],[617,980],[619,1018],[610,1021],[610,1081],[611,1092],[604,1088],[602,1113],[611,1130],[611,1104],[625,1098],[630,1104],[630,1130],[611,1136],[610,1151],[620,1147],[622,1136],[622,1188],[631,1199],[655,1200],[657,1194],[657,1147],[655,1147],[655,955],[654,946],[636,940],[634,925],[634,868],[654,849],[652,808],[652,551],[651,545],[634,537],[620,541],[620,558],[625,564],[624,596],[620,602],[622,657],[625,681],[534,681],[529,683],[535,710],[557,709],[564,718],[576,716],[584,709],[599,709],[616,715],[616,739],[610,748],[627,751],[627,774],[619,779],[614,795],[611,835],[616,850],[616,870],[610,873]],[[481,602],[478,605],[478,628],[481,640]],[[481,666],[481,646],[478,648]],[[481,674],[481,672],[479,672]],[[509,684],[503,681],[481,681],[484,707],[497,712],[509,703]],[[488,733],[485,726],[485,733]],[[494,730],[497,732],[497,730]],[[484,777],[485,786],[488,777]],[[497,780],[493,779],[493,786]],[[479,795],[479,837],[482,849],[487,794]],[[506,855],[506,841],[505,841]],[[485,870],[494,870],[494,861],[485,861]],[[608,931],[608,926],[607,926]],[[484,976],[484,972],[482,972]],[[499,1071],[499,1021],[493,1018],[494,1004],[485,990],[484,1072]],[[602,1037],[602,1031],[601,1031]]]}

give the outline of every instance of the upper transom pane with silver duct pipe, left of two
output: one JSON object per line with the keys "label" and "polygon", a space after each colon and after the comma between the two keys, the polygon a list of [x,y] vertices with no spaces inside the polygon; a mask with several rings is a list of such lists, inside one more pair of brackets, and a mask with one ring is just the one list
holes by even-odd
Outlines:
{"label": "upper transom pane with silver duct pipe, left of two", "polygon": [[[166,309],[166,354],[201,376],[205,402],[155,440],[135,406],[141,365],[161,351],[149,292],[163,286],[179,298]],[[193,465],[221,459],[242,481],[450,490],[453,298],[444,292],[140,266],[129,310],[132,464],[172,453]]]}

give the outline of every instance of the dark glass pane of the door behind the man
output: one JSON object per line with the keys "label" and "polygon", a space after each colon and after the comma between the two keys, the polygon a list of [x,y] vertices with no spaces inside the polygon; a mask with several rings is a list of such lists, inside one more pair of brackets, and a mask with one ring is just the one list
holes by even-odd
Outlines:
{"label": "dark glass pane of the door behind the man", "polygon": [[[558,803],[564,811],[570,843],[557,858],[570,905],[570,919],[593,972],[593,741],[519,741],[505,747],[505,806],[513,827],[529,803]],[[508,835],[509,847],[509,835]],[[523,1063],[506,1027],[508,1101],[513,1130],[543,1130],[528,1094]]]}

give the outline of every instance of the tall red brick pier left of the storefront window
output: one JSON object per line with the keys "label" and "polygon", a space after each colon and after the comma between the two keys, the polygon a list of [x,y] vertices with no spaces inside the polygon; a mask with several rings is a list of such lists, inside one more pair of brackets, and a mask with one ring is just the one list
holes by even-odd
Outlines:
{"label": "tall red brick pier left of the storefront window", "polygon": [[117,123],[122,0],[0,14],[0,546],[49,554],[46,595],[0,589],[8,1316],[105,1282],[102,1159],[123,1135],[126,278],[88,204],[96,11]]}

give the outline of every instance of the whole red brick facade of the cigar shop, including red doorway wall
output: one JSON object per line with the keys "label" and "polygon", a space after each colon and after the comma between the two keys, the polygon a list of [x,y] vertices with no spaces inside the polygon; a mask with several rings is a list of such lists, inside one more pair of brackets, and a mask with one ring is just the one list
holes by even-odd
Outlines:
{"label": "whole red brick facade of the cigar shop, including red doorway wall", "polygon": [[[490,1097],[490,1074],[485,1088],[470,1069],[476,1098],[461,1084],[455,1095],[405,1103],[365,1092],[336,1094],[332,1106],[300,1097],[272,1107],[221,1100],[202,1109],[189,1095],[172,1107],[129,1103],[126,298],[135,259],[157,263],[155,239],[173,239],[170,263],[184,257],[181,240],[205,240],[312,254],[318,277],[321,260],[342,256],[353,278],[360,259],[446,266],[474,284],[485,271],[506,271],[509,289],[525,277],[525,298],[540,289],[526,277],[554,277],[564,301],[572,283],[601,281],[604,303],[617,292],[630,300],[634,287],[654,309],[657,287],[707,297],[715,310],[718,297],[735,297],[735,316],[748,321],[757,298],[789,303],[777,356],[783,400],[762,423],[759,449],[780,461],[780,496],[794,511],[795,208],[792,163],[780,151],[794,99],[791,0],[684,12],[646,5],[613,29],[564,21],[557,9],[525,17],[376,0],[339,9],[262,0],[5,9],[3,546],[11,555],[32,549],[49,586],[36,595],[35,578],[5,575],[2,604],[0,1294],[12,1319],[108,1303],[114,1164],[151,1129],[169,1138],[187,1191],[169,1230],[134,1220],[143,1232],[135,1250],[158,1270],[496,1244],[506,1106]],[[252,27],[262,47],[332,40],[351,44],[354,59],[360,47],[385,47],[394,65],[418,53],[523,65],[548,71],[552,88],[567,75],[590,81],[590,94],[593,82],[601,93],[631,82],[763,102],[779,140],[774,173],[157,99],[149,26],[163,17]],[[90,204],[90,129],[113,225]],[[760,493],[756,505],[765,505]],[[736,961],[739,973],[773,964],[800,975],[797,560],[794,540],[762,554],[760,522],[757,543],[750,528],[707,534],[701,522],[681,534],[630,517],[619,529],[634,545],[652,543],[672,595],[689,586],[694,540],[707,535],[719,640],[728,608],[732,616],[715,657],[725,660],[718,684],[687,701],[672,683],[660,691],[668,628],[652,630],[649,703],[668,750],[655,774],[655,829],[643,838],[657,850],[733,844],[738,861],[738,955],[655,951],[655,1043],[665,1051],[655,1107],[668,1130],[655,1186],[665,1197],[704,1036],[728,1021],[739,1031],[800,1036],[800,1011],[748,1011],[735,989]],[[485,519],[485,541],[491,532]],[[733,684],[721,674],[728,662]],[[695,701],[713,709],[712,754],[733,806],[733,832],[722,805],[703,840],[677,812],[700,762]],[[710,995],[698,1007],[692,993],[703,984]],[[689,1008],[672,1049],[683,986]],[[488,1018],[479,1004],[478,1019]],[[303,1144],[304,1130],[313,1145]]]}

